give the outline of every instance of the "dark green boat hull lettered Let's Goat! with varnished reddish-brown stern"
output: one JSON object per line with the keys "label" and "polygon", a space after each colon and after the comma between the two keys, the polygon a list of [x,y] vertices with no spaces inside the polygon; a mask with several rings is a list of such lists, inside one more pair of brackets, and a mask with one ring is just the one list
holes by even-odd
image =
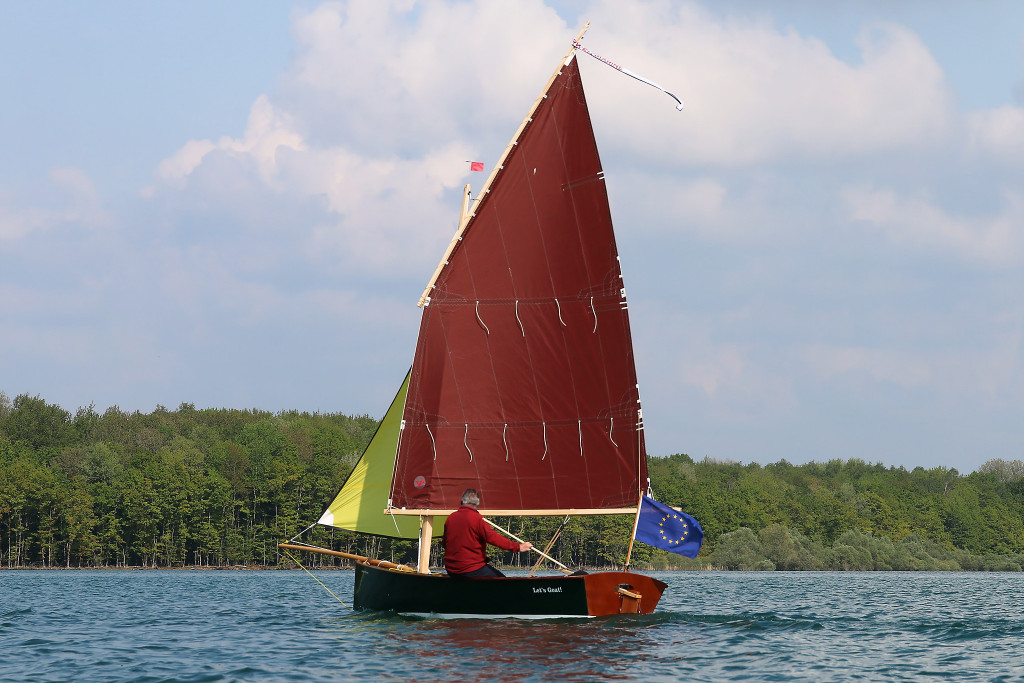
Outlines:
{"label": "dark green boat hull lettered Let's Goat! with varnished reddish-brown stern", "polygon": [[650,613],[666,585],[602,571],[580,577],[458,579],[355,565],[356,609],[442,616],[599,616]]}

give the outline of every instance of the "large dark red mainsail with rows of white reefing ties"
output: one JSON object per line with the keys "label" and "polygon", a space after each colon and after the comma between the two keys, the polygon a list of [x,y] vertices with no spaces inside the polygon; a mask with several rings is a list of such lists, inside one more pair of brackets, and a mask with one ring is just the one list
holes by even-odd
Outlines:
{"label": "large dark red mainsail with rows of white reefing ties", "polygon": [[640,398],[603,171],[575,58],[472,209],[423,309],[391,505],[635,507]]}

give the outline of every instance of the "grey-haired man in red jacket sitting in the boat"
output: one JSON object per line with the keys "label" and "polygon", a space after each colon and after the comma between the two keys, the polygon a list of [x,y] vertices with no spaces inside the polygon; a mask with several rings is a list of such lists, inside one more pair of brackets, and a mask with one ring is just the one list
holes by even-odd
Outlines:
{"label": "grey-haired man in red jacket sitting in the boat", "polygon": [[458,577],[504,577],[501,571],[487,564],[487,544],[503,550],[525,552],[534,547],[530,543],[516,543],[500,536],[476,511],[480,497],[475,488],[467,488],[462,495],[462,505],[449,515],[444,522],[444,568]]}

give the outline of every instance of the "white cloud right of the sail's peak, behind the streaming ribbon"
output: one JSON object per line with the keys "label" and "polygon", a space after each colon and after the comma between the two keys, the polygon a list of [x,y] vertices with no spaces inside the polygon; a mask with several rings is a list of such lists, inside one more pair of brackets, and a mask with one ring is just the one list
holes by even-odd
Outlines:
{"label": "white cloud right of the sail's peak, behind the streaming ribbon", "polygon": [[695,5],[631,9],[603,3],[591,48],[676,92],[687,109],[680,116],[653,89],[610,83],[622,77],[603,67],[592,70],[608,73],[591,93],[596,109],[611,112],[609,127],[622,133],[615,144],[646,159],[834,162],[922,148],[954,123],[942,69],[900,26],[865,29],[858,39],[862,62],[851,65],[816,38],[764,23],[723,22]]}

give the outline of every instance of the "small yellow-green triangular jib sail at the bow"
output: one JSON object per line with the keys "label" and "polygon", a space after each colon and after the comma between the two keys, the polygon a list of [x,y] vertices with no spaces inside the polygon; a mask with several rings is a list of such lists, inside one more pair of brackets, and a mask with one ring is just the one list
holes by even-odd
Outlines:
{"label": "small yellow-green triangular jib sail at the bow", "polygon": [[[341,487],[338,496],[328,506],[319,518],[326,526],[387,536],[399,539],[417,539],[420,536],[418,517],[387,515],[388,494],[391,490],[391,475],[394,472],[394,458],[398,451],[398,436],[401,433],[401,413],[409,391],[409,375],[401,383],[398,394],[391,401],[377,433],[370,439],[370,445],[355,463],[352,473]],[[434,519],[433,535],[439,537],[443,530],[444,518]]]}

